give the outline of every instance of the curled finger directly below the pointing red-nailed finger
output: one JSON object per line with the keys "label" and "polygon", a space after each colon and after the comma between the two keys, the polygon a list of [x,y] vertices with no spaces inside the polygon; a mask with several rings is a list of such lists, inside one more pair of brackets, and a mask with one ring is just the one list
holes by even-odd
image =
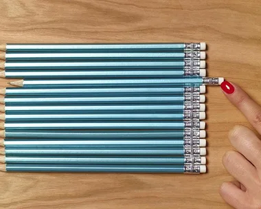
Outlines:
{"label": "curled finger directly below the pointing red-nailed finger", "polygon": [[245,126],[235,126],[229,131],[231,144],[254,166],[261,168],[261,141]]}

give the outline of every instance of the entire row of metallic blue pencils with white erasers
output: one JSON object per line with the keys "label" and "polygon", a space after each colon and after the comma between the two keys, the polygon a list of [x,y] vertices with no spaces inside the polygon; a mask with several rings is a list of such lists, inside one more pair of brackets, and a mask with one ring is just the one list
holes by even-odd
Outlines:
{"label": "entire row of metallic blue pencils with white erasers", "polygon": [[0,169],[205,173],[205,43],[1,45]]}

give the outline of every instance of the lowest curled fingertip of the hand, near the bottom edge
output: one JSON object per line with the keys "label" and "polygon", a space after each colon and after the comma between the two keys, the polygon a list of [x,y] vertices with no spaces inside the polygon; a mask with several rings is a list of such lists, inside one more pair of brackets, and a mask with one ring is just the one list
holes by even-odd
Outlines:
{"label": "lowest curled fingertip of the hand, near the bottom edge", "polygon": [[220,196],[234,208],[245,208],[247,195],[240,190],[235,184],[225,182],[220,186]]}

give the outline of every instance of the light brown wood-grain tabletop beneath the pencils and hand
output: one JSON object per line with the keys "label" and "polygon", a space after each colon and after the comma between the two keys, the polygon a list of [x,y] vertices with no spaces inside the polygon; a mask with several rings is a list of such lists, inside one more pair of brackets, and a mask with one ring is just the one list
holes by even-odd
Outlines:
{"label": "light brown wood-grain tabletop beneath the pencils and hand", "polygon": [[[209,76],[261,104],[259,0],[1,0],[0,10],[2,43],[205,41]],[[231,179],[227,132],[248,123],[219,87],[207,91],[207,174],[0,173],[0,208],[229,208],[218,195]]]}

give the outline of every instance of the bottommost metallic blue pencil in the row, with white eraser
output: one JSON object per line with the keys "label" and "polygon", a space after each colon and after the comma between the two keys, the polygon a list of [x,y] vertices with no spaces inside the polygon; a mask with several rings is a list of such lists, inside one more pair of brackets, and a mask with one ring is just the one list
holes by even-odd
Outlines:
{"label": "bottommost metallic blue pencil in the row, with white eraser", "polygon": [[205,165],[0,164],[7,172],[206,173]]}

